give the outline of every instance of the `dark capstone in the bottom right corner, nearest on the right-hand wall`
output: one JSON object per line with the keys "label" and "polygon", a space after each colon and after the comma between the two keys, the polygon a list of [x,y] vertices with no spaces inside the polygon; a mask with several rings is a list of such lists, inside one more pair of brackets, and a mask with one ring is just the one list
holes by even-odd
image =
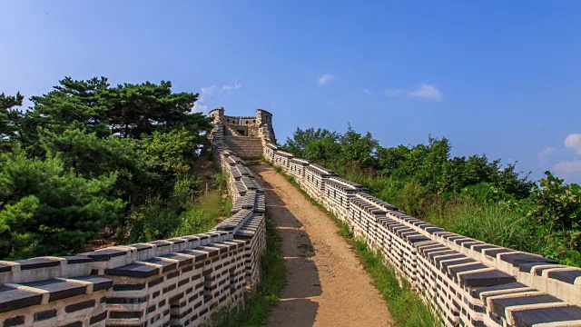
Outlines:
{"label": "dark capstone in the bottom right corner, nearest on the right-hand wall", "polygon": [[581,308],[578,306],[566,306],[519,310],[513,312],[513,317],[515,318],[515,327],[531,327],[537,323],[581,320]]}

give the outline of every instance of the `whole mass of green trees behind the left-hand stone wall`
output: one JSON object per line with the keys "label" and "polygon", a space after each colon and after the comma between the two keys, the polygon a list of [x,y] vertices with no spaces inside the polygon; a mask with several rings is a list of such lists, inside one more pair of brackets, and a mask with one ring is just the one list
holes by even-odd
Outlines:
{"label": "whole mass of green trees behind the left-hand stone wall", "polygon": [[74,253],[105,227],[149,241],[198,217],[192,167],[211,119],[171,87],[65,77],[26,111],[0,94],[0,259]]}

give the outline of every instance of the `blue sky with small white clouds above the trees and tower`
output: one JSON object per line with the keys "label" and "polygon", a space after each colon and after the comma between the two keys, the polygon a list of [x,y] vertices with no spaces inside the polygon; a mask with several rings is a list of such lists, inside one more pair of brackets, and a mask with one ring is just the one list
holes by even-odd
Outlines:
{"label": "blue sky with small white clouds above the trees and tower", "polygon": [[0,92],[65,75],[170,80],[198,109],[348,122],[384,146],[446,136],[581,182],[579,1],[5,1]]}

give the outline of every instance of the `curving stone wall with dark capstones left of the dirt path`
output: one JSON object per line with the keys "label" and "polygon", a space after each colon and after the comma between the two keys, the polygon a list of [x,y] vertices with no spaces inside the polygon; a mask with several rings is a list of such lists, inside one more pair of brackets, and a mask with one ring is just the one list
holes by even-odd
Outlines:
{"label": "curving stone wall with dark capstones left of the dirt path", "polygon": [[264,194],[235,154],[215,158],[229,176],[230,218],[208,233],[0,262],[1,325],[196,326],[240,302],[260,279]]}

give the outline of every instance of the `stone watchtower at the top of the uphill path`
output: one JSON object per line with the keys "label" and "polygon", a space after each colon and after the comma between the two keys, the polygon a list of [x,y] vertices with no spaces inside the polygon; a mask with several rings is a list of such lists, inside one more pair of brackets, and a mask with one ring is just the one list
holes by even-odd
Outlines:
{"label": "stone watchtower at the top of the uphill path", "polygon": [[210,112],[214,128],[210,135],[215,150],[228,148],[242,159],[260,159],[264,144],[276,144],[272,114],[257,109],[256,116],[227,116],[224,108]]}

